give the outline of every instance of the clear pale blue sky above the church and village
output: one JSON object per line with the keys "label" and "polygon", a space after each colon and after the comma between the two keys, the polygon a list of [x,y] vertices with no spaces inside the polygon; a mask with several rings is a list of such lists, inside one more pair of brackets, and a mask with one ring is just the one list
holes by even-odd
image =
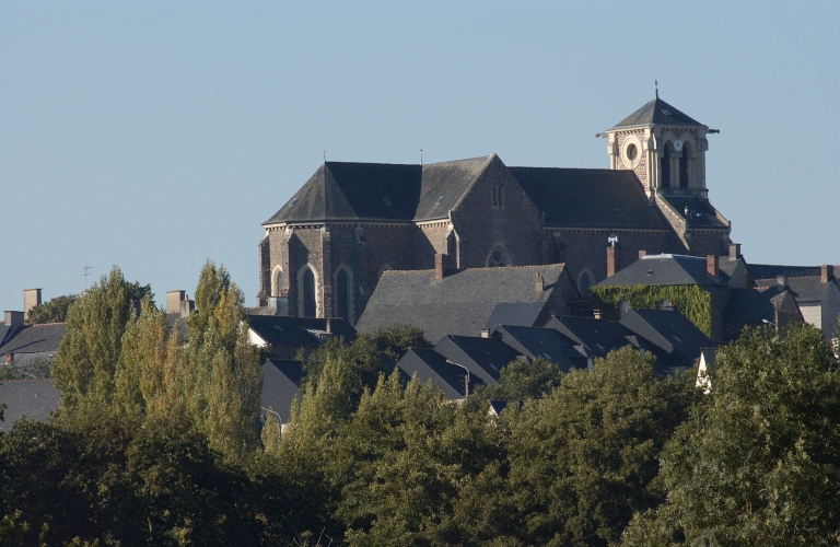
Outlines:
{"label": "clear pale blue sky above the church and village", "polygon": [[840,264],[840,2],[0,1],[0,305],[127,279],[254,305],[260,223],[328,160],[608,167],[653,97],[709,137],[747,260]]}

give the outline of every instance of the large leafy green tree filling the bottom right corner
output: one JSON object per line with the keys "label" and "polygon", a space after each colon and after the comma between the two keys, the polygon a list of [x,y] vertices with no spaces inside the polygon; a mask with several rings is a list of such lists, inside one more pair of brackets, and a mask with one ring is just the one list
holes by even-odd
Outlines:
{"label": "large leafy green tree filling the bottom right corner", "polygon": [[667,503],[627,545],[837,545],[840,372],[819,330],[751,330],[663,454]]}

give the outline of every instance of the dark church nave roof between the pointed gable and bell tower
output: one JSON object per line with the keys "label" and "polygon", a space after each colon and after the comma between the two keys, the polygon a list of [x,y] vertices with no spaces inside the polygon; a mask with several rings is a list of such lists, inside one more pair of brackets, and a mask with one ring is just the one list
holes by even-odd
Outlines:
{"label": "dark church nave roof between the pointed gable and bell tower", "polygon": [[548,226],[669,230],[629,170],[508,167]]}

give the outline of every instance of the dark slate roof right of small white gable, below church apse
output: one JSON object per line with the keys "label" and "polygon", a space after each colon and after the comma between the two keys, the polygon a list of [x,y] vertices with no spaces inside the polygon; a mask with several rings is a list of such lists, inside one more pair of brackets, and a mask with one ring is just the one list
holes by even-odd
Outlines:
{"label": "dark slate roof right of small white gable, below church apse", "polygon": [[[310,330],[327,329],[326,318],[248,315],[248,321],[250,329],[271,346],[320,346],[320,339]],[[329,329],[346,341],[355,339],[355,329],[345,319],[329,319]]]}

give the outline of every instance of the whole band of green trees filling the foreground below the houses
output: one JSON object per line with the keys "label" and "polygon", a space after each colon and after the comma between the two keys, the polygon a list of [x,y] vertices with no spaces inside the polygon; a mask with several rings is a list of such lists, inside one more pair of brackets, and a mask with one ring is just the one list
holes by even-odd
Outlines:
{"label": "whole band of green trees filling the foreground below the houses", "polygon": [[228,272],[202,270],[186,345],[125,284],[114,270],[71,306],[59,415],[0,437],[2,545],[840,539],[840,375],[810,327],[723,348],[705,395],[626,348],[569,374],[515,361],[453,404],[395,370],[428,345],[395,326],[311,356],[291,422],[258,435]]}

